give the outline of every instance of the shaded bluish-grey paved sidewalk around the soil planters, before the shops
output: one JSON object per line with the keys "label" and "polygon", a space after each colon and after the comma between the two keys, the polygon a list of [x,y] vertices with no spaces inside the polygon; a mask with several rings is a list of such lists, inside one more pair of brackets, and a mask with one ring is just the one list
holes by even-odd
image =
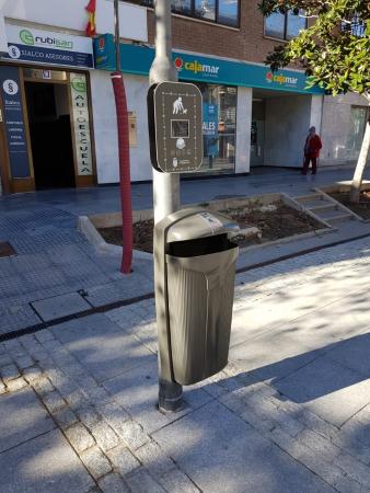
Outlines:
{"label": "shaded bluish-grey paved sidewalk around the soil planters, before the shops", "polygon": [[[312,186],[346,180],[351,170],[322,170],[313,182],[297,171],[231,179],[185,181],[183,204],[224,196],[268,192],[304,194]],[[151,207],[151,185],[132,187],[135,208]],[[118,210],[117,187],[48,191],[0,197],[0,241],[10,241],[18,255],[0,259],[0,339],[25,328],[94,312],[114,303],[129,303],[153,291],[151,261],[134,260],[134,273],[118,272],[117,255],[99,254],[77,231],[79,215]],[[299,251],[370,233],[370,225],[351,221],[339,232],[240,256],[238,267],[271,262]]]}

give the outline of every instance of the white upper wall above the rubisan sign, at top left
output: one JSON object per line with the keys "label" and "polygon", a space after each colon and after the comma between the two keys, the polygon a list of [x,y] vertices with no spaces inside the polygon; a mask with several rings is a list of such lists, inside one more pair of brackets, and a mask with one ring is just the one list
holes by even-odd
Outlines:
{"label": "white upper wall above the rubisan sign, at top left", "polygon": [[[89,0],[0,0],[0,33],[2,33],[2,18],[84,32],[88,23],[88,14],[85,11],[88,1]],[[97,0],[97,33],[113,33],[113,1]],[[147,9],[130,3],[119,2],[119,25],[122,37],[141,42],[148,41]]]}

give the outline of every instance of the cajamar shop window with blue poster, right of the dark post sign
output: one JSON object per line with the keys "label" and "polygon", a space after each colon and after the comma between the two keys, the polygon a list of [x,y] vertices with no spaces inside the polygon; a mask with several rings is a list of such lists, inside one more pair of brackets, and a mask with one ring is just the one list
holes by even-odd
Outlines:
{"label": "cajamar shop window with blue poster, right of the dark post sign", "polygon": [[231,173],[235,167],[236,88],[197,85],[204,101],[204,161],[200,171]]}

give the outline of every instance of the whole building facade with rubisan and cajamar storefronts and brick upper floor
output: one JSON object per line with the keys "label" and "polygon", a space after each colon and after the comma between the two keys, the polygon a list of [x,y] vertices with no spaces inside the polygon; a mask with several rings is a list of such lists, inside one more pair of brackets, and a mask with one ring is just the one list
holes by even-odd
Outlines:
{"label": "whole building facade with rubisan and cajamar storefronts and brick upper floor", "polygon": [[[86,0],[0,1],[0,171],[3,192],[118,182],[113,2],[97,0],[99,36],[85,36]],[[356,94],[307,90],[299,69],[264,59],[304,27],[265,20],[257,1],[175,0],[173,59],[204,96],[204,163],[196,175],[302,163],[308,128],[323,137],[321,165],[356,162],[368,107]],[[120,2],[131,179],[151,180],[147,92],[154,56],[150,0]]]}

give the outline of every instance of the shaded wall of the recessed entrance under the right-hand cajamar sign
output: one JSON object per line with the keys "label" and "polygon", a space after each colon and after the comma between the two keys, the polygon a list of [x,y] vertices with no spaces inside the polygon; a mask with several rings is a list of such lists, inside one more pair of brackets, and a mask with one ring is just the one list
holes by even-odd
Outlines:
{"label": "shaded wall of the recessed entrance under the right-hand cajamar sign", "polygon": [[266,165],[302,165],[304,141],[311,123],[311,99],[309,95],[291,94],[266,100]]}

